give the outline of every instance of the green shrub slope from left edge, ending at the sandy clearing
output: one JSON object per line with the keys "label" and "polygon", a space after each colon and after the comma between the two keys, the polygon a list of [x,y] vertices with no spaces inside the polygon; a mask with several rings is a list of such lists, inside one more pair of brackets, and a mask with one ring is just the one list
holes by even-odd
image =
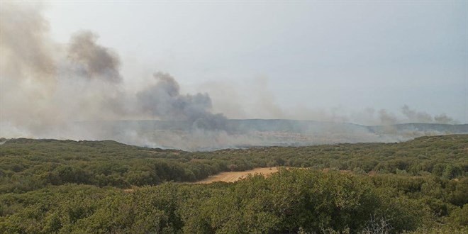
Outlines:
{"label": "green shrub slope from left edge, ending at the sandy clearing", "polygon": [[227,171],[221,160],[191,152],[136,147],[115,141],[9,140],[0,145],[0,192],[68,183],[129,188],[194,182]]}

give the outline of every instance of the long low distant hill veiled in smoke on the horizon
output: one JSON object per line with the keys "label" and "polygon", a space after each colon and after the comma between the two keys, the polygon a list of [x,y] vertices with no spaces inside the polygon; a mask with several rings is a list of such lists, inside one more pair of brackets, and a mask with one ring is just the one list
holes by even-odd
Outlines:
{"label": "long low distant hill veiled in smoke on the horizon", "polygon": [[208,126],[203,121],[86,121],[75,140],[117,140],[130,145],[179,150],[218,150],[251,146],[296,146],[334,143],[390,143],[424,135],[468,134],[468,124],[403,123],[362,126],[354,123],[287,119],[228,119]]}

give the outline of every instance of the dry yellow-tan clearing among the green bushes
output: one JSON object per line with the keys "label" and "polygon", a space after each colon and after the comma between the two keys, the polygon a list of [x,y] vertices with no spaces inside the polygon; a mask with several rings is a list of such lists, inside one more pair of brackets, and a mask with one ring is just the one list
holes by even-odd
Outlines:
{"label": "dry yellow-tan clearing among the green bushes", "polygon": [[248,174],[262,174],[264,176],[268,176],[274,172],[278,172],[277,167],[255,168],[245,172],[221,172],[220,174],[212,175],[196,183],[209,184],[213,182],[236,182],[239,179],[247,177]]}

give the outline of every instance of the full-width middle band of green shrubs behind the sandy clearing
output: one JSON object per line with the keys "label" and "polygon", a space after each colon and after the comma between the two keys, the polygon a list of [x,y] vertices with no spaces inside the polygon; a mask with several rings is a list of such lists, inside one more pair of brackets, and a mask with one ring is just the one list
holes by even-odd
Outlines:
{"label": "full-width middle band of green shrubs behind the sandy clearing", "polygon": [[468,172],[467,149],[468,135],[423,137],[405,143],[254,147],[215,152],[151,149],[111,140],[13,139],[0,145],[0,193],[68,183],[130,188],[171,181],[194,182],[219,172],[277,166],[455,179]]}

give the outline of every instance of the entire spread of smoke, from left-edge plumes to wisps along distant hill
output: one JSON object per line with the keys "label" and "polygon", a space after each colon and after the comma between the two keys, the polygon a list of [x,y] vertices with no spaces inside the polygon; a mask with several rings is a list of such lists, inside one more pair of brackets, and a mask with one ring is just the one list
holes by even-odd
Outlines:
{"label": "entire spread of smoke, from left-edge plumes to wisps along distant hill", "polygon": [[[213,103],[216,99],[213,101],[206,92],[182,94],[176,79],[164,72],[147,77],[145,87],[130,90],[120,72],[120,58],[111,48],[99,44],[98,35],[84,30],[72,35],[69,43],[57,43],[49,36],[42,9],[41,4],[1,3],[2,137],[113,139],[184,150],[406,139],[382,137],[368,128],[347,124],[228,121],[222,113],[215,113],[213,106],[223,106],[223,112],[228,113],[245,111],[245,118],[252,118],[255,112],[262,118],[302,116],[339,123],[357,119],[383,125],[455,123],[445,114],[433,117],[408,106],[401,108],[403,117],[372,108],[354,115],[342,114],[339,108],[286,110],[274,102],[265,78],[254,79],[244,90],[238,84],[215,85],[217,94],[224,96],[224,104]],[[235,94],[232,87],[251,95]],[[244,103],[251,105],[247,108]]]}

